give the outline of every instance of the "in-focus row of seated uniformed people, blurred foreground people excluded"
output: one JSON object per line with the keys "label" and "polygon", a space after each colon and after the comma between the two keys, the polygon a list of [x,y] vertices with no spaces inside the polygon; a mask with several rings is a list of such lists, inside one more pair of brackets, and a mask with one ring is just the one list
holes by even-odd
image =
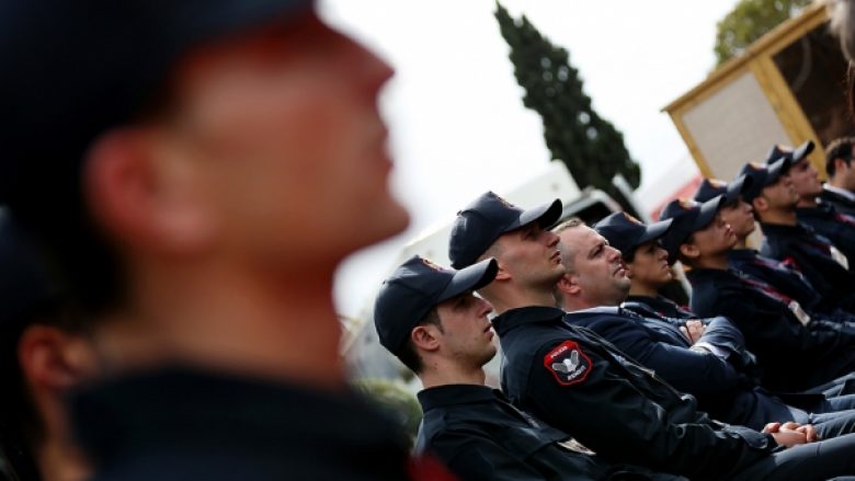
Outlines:
{"label": "in-focus row of seated uniformed people, blurred foreground people excluded", "polygon": [[[375,305],[424,386],[417,449],[467,480],[855,474],[854,146],[824,186],[812,142],[775,146],[651,225],[478,197],[452,266],[413,256]],[[660,295],[676,262],[688,306]]]}

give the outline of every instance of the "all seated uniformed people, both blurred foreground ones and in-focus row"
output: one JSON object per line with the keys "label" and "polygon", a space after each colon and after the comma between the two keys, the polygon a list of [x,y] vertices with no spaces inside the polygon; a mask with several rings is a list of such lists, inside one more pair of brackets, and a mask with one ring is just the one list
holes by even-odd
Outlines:
{"label": "all seated uniformed people, both blurred foreground ones and in-focus row", "polygon": [[332,301],[409,221],[388,65],[312,0],[8,0],[0,68],[4,481],[855,476],[852,139],[824,186],[778,146],[649,226],[478,197],[376,300],[413,454]]}

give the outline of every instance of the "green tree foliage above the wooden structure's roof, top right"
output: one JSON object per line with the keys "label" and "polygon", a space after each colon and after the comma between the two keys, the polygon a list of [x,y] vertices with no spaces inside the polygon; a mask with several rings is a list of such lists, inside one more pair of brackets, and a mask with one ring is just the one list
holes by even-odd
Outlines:
{"label": "green tree foliage above the wooden structure's roof, top right", "polygon": [[740,0],[716,25],[716,66],[736,57],[754,41],[799,13],[813,0]]}

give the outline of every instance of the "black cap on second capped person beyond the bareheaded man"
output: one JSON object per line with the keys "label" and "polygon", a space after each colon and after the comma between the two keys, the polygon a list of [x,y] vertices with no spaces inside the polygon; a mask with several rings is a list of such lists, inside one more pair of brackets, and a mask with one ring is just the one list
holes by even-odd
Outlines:
{"label": "black cap on second capped person beyond the bareheaded man", "polygon": [[659,218],[672,219],[671,229],[662,237],[662,247],[668,251],[671,262],[676,261],[680,245],[689,236],[709,226],[722,205],[725,205],[723,195],[717,195],[704,203],[685,198],[668,203]]}

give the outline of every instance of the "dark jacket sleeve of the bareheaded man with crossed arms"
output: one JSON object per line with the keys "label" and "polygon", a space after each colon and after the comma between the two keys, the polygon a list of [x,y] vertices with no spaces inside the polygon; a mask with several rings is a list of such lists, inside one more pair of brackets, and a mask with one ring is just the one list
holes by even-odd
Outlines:
{"label": "dark jacket sleeve of the bareheaded man with crossed arms", "polygon": [[740,381],[739,374],[726,360],[708,352],[670,343],[637,322],[604,320],[592,323],[589,329],[656,371],[679,391],[695,396],[720,394]]}

